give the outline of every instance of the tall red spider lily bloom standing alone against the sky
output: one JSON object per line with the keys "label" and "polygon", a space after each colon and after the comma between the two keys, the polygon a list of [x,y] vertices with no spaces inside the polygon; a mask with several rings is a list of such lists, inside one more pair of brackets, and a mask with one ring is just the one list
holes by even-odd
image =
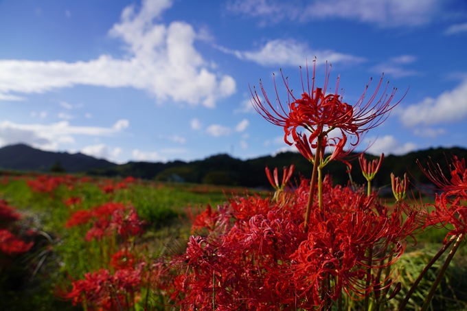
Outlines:
{"label": "tall red spider lily bloom standing alone against the sky", "polygon": [[[363,135],[369,129],[384,122],[389,116],[391,109],[398,104],[396,103],[390,106],[396,89],[394,89],[391,95],[387,97],[387,87],[384,90],[383,95],[376,101],[376,104],[374,104],[383,77],[380,79],[375,92],[369,97],[367,102],[365,102],[365,97],[368,86],[365,88],[363,95],[361,95],[360,99],[356,104],[354,104],[354,106],[342,102],[342,96],[337,94],[337,90],[339,89],[339,78],[334,94],[326,95],[330,75],[328,67],[326,66],[326,79],[322,89],[318,87],[315,88],[315,69],[316,61],[314,61],[313,65],[311,88],[310,78],[308,76],[308,67],[306,69],[306,85],[308,88],[305,89],[305,83],[302,78],[301,98],[296,98],[293,95],[291,89],[288,87],[288,81],[284,76],[282,76],[282,80],[284,80],[288,94],[288,101],[286,102],[288,112],[286,112],[284,105],[280,101],[276,85],[275,90],[277,102],[279,104],[277,108],[275,108],[269,101],[261,82],[260,88],[265,100],[264,104],[260,100],[260,96],[256,90],[251,91],[253,96],[252,102],[256,111],[258,111],[258,113],[260,113],[260,115],[262,115],[267,121],[284,128],[284,141],[289,145],[292,145],[293,142],[297,143],[297,138],[299,137],[299,135],[297,135],[297,128],[305,128],[310,131],[310,143],[315,141],[319,136],[328,136],[331,130],[339,129],[341,130],[341,139],[348,135],[351,135],[354,138],[352,141],[349,141],[349,143],[351,148],[355,148],[361,141]],[[293,136],[293,142],[288,141],[289,135]],[[301,141],[303,142],[303,139]],[[340,141],[335,141],[335,146],[341,147]],[[343,148],[339,148],[339,151],[341,150],[343,150]],[[310,158],[307,157],[307,159]]]}

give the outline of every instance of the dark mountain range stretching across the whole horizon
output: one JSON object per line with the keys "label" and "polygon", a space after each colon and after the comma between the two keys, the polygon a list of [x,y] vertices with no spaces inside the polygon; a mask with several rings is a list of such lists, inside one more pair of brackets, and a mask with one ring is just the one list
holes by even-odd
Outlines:
{"label": "dark mountain range stretching across the whole horizon", "polygon": [[[422,169],[433,163],[439,163],[446,172],[451,157],[467,159],[467,149],[464,148],[430,148],[418,150],[404,155],[389,155],[385,157],[380,172],[376,174],[372,185],[384,187],[391,185],[391,172],[396,176],[408,174],[411,181],[429,183]],[[366,154],[367,159],[376,159]],[[310,178],[312,165],[297,152],[283,152],[275,156],[258,157],[256,159],[240,160],[228,154],[216,154],[203,160],[184,162],[171,161],[167,163],[128,162],[117,165],[106,160],[99,160],[85,154],[69,154],[67,152],[47,152],[37,150],[24,144],[0,148],[0,168],[6,170],[23,170],[49,172],[57,161],[66,172],[84,172],[99,176],[134,176],[137,178],[157,181],[174,181],[186,183],[208,183],[214,185],[239,185],[243,187],[269,187],[269,181],[264,168],[271,170],[284,166],[295,165],[293,180],[299,181],[300,176]],[[352,154],[349,160],[352,165],[352,179],[358,184],[365,183],[358,164],[358,154]],[[431,163],[431,164],[429,164]],[[348,183],[350,176],[346,165],[339,161],[331,161],[323,174],[331,174],[334,184]],[[282,172],[280,172],[282,178]],[[450,178],[450,176],[447,176]]]}

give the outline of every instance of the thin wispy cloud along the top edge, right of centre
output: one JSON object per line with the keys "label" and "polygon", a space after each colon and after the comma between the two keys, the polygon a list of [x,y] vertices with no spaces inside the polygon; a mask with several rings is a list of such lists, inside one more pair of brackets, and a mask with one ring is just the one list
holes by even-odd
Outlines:
{"label": "thin wispy cloud along the top edge, right of centre", "polygon": [[380,27],[400,27],[430,23],[441,11],[442,3],[442,0],[236,0],[227,8],[232,12],[262,17],[269,23],[284,19],[306,23],[334,18]]}

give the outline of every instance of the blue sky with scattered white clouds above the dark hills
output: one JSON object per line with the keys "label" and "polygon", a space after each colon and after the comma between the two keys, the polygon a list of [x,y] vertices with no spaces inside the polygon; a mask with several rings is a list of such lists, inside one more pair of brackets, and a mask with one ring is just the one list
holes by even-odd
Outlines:
{"label": "blue sky with scattered white clouds above the dark hills", "polygon": [[466,1],[1,0],[0,146],[117,163],[289,150],[249,85],[274,101],[273,73],[299,90],[316,57],[317,86],[327,60],[349,104],[383,72],[394,102],[407,92],[359,150],[467,148],[466,55]]}

